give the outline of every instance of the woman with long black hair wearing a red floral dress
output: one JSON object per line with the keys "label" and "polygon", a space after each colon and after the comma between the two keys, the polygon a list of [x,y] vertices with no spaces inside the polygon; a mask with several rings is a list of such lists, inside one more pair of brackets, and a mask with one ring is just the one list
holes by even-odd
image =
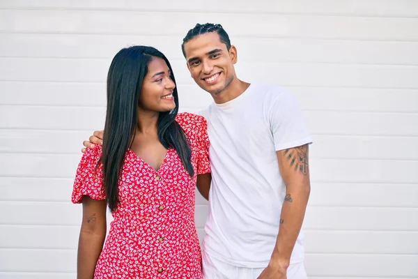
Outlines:
{"label": "woman with long black hair wearing a red floral dress", "polygon": [[[77,278],[202,278],[194,187],[197,176],[208,184],[206,128],[203,117],[178,114],[164,54],[116,54],[103,145],[84,153],[72,193],[83,204]],[[107,206],[114,220],[104,243]]]}

